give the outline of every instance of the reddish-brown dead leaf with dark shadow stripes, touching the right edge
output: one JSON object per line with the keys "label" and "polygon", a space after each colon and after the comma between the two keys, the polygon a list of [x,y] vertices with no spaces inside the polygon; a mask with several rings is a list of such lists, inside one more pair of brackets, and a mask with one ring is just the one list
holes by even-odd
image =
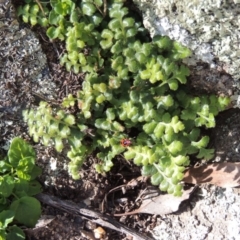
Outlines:
{"label": "reddish-brown dead leaf with dark shadow stripes, touching the right edge", "polygon": [[210,183],[220,187],[240,185],[240,163],[221,162],[189,168],[183,180],[186,183]]}

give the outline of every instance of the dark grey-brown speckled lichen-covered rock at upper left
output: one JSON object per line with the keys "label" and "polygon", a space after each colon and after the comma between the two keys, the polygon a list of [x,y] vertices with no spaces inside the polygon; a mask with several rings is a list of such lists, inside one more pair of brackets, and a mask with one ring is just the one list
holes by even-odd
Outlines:
{"label": "dark grey-brown speckled lichen-covered rock at upper left", "polygon": [[17,19],[10,0],[0,2],[0,106],[31,100],[32,92],[54,99],[47,59],[36,35]]}

